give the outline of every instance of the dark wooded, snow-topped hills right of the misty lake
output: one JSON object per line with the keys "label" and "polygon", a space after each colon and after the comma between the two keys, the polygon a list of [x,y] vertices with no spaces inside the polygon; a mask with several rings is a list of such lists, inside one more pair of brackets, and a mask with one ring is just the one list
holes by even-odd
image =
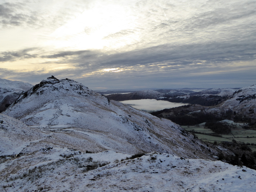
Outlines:
{"label": "dark wooded, snow-topped hills right of the misty lake", "polygon": [[[235,122],[256,123],[256,84],[236,89],[209,89],[196,94],[168,99],[194,105],[152,112],[184,125],[229,119]],[[201,104],[201,105],[198,105]]]}

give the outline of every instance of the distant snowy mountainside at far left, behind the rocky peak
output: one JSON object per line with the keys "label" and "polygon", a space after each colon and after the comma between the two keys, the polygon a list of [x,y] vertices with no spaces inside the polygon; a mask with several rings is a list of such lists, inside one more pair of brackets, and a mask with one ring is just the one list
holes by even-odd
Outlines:
{"label": "distant snowy mountainside at far left, behind the rocky peak", "polygon": [[0,113],[10,106],[21,92],[27,91],[32,86],[29,83],[0,78]]}

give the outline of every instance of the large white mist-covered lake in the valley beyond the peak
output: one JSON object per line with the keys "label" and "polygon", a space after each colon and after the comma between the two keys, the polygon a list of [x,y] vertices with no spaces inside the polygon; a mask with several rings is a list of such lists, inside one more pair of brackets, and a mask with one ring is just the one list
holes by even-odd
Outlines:
{"label": "large white mist-covered lake in the valley beyond the peak", "polygon": [[188,103],[172,103],[169,101],[156,100],[156,99],[140,99],[140,100],[125,100],[120,101],[133,108],[140,109],[147,112],[159,111],[166,108],[180,107],[188,105]]}

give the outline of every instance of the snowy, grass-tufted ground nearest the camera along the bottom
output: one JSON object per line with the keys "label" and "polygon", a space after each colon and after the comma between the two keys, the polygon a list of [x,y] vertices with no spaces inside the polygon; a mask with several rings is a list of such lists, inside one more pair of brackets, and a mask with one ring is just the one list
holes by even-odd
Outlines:
{"label": "snowy, grass-tufted ground nearest the camera along the bottom", "polygon": [[[255,170],[221,161],[184,159],[152,152],[139,158],[118,162],[125,157],[130,155],[113,150],[97,154],[79,154],[67,148],[45,148],[29,157],[21,156],[1,164],[1,188],[2,191],[29,192],[254,192],[256,188]],[[93,164],[106,161],[110,163],[87,171]],[[17,167],[24,168],[17,171]]]}

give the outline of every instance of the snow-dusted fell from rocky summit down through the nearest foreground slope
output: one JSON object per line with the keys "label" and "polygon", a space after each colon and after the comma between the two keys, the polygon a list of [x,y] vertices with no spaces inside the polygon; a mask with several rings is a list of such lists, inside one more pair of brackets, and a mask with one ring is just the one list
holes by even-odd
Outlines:
{"label": "snow-dusted fell from rocky summit down through the nearest foreground slope", "polygon": [[52,76],[0,114],[0,190],[253,192],[256,171],[212,161],[221,150]]}

